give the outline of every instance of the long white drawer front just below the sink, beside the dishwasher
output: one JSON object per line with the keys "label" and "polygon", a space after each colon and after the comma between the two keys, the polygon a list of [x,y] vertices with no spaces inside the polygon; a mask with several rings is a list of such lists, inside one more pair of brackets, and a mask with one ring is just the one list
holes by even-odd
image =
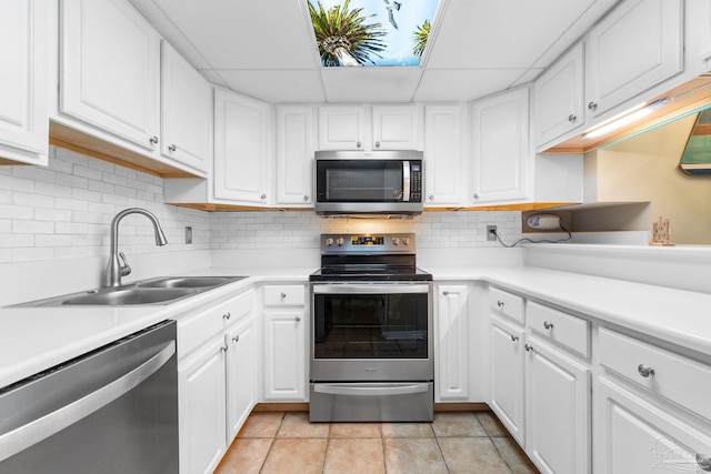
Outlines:
{"label": "long white drawer front just below the sink, beside the dishwasher", "polygon": [[201,313],[178,321],[178,359],[190,353],[210,336],[250,313],[254,290],[219,303]]}

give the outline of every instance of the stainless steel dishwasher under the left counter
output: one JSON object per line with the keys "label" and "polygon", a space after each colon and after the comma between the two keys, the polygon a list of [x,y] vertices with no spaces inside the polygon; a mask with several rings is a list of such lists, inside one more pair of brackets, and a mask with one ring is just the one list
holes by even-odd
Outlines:
{"label": "stainless steel dishwasher under the left counter", "polygon": [[178,473],[174,321],[0,389],[0,473]]}

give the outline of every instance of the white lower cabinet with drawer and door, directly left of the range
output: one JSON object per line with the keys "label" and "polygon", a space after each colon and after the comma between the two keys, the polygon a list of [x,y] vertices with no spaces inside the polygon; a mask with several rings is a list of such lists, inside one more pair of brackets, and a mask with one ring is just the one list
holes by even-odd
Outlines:
{"label": "white lower cabinet with drawer and door, directly left of the range", "polygon": [[263,400],[307,400],[306,288],[264,285]]}

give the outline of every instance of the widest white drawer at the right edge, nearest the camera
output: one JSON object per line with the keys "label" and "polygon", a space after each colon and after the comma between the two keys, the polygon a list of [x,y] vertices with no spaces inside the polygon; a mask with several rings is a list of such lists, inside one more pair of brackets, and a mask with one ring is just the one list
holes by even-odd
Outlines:
{"label": "widest white drawer at the right edge, nearest the camera", "polygon": [[599,341],[603,366],[711,420],[711,366],[605,327]]}

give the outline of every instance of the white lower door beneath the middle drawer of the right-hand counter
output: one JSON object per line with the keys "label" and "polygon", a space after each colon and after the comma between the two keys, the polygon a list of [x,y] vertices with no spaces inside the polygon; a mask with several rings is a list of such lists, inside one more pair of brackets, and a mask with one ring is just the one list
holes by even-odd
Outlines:
{"label": "white lower door beneath the middle drawer of the right-hand counter", "polygon": [[527,453],[543,473],[589,473],[590,369],[533,336],[527,351]]}

